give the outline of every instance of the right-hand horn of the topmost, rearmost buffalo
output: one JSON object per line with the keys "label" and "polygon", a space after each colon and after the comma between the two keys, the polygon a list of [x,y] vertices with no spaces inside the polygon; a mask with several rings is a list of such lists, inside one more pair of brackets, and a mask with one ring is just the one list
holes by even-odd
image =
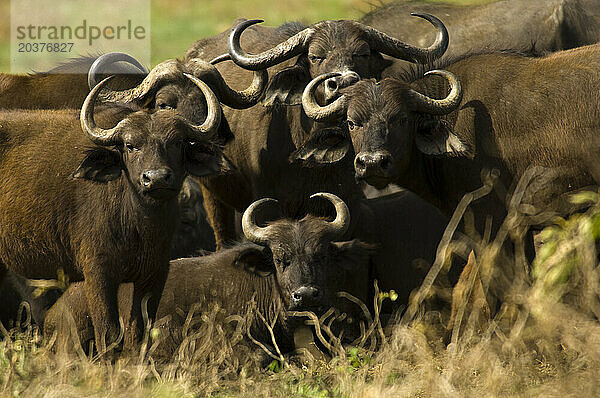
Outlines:
{"label": "right-hand horn of the topmost, rearmost buffalo", "polygon": [[437,29],[437,36],[431,46],[427,48],[411,46],[370,26],[360,24],[360,27],[365,32],[372,49],[379,51],[380,53],[422,64],[426,64],[441,57],[448,48],[448,30],[446,29],[446,26],[444,26],[444,23],[431,14],[412,13],[410,15],[431,22]]}

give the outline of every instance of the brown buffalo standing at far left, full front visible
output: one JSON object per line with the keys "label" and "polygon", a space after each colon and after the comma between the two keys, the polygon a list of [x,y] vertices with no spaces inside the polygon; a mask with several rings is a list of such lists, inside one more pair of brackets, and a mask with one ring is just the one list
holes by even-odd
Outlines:
{"label": "brown buffalo standing at far left, full front visible", "polygon": [[[118,122],[112,128],[99,127],[94,115],[108,79],[90,92],[80,118],[73,111],[0,112],[0,268],[35,279],[54,278],[62,268],[70,280],[83,280],[101,348],[119,335],[119,283],[134,283],[136,304],[150,293],[148,314],[156,313],[186,174],[227,169],[219,100],[177,65],[165,61],[139,86],[109,93],[125,103],[98,115],[101,125]],[[143,108],[165,79],[197,88],[189,106],[198,119],[204,112],[201,124],[174,109]],[[135,338],[142,314],[139,305],[132,311],[128,336]]]}

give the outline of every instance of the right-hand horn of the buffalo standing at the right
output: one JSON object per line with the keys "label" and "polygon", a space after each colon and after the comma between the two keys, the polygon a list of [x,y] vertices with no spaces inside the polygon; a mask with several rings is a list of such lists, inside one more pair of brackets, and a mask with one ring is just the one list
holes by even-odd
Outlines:
{"label": "right-hand horn of the buffalo standing at the right", "polygon": [[462,100],[462,87],[454,74],[446,70],[431,70],[425,75],[438,75],[445,78],[450,85],[450,93],[444,99],[433,99],[415,90],[409,91],[413,110],[432,115],[446,115],[455,111]]}

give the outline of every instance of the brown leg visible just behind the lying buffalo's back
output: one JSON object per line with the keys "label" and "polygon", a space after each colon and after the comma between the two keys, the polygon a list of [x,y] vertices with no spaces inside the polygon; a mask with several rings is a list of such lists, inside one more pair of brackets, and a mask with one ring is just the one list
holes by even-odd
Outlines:
{"label": "brown leg visible just behind the lying buffalo's back", "polygon": [[215,234],[216,249],[221,250],[227,243],[236,240],[235,211],[225,203],[219,201],[202,184],[202,196],[204,197],[204,208],[208,222]]}

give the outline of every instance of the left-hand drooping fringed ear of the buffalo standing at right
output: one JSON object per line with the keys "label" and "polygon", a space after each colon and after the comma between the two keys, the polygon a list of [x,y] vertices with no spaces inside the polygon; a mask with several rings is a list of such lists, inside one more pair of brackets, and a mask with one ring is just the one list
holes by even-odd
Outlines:
{"label": "left-hand drooping fringed ear of the buffalo standing at right", "polygon": [[327,165],[342,160],[350,151],[350,137],[338,129],[317,130],[300,148],[289,156],[290,163],[304,167]]}

